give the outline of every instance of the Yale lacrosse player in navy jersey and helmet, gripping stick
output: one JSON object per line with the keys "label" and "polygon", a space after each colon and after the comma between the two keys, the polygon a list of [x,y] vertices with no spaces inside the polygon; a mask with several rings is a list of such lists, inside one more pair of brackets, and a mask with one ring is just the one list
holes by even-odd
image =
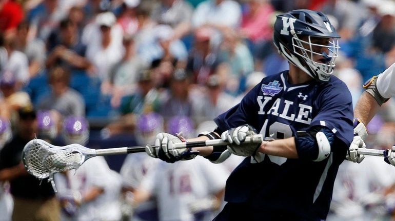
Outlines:
{"label": "Yale lacrosse player in navy jersey and helmet, gripping stick", "polygon": [[[339,34],[326,15],[294,10],[277,15],[274,45],[289,70],[267,73],[242,101],[214,119],[223,147],[174,149],[183,142],[159,133],[146,152],[169,163],[202,155],[214,163],[229,153],[246,156],[226,182],[227,204],[214,220],[323,220],[333,182],[353,137],[352,99],[331,76]],[[262,134],[260,144],[244,142]],[[192,161],[193,162],[193,161]]]}

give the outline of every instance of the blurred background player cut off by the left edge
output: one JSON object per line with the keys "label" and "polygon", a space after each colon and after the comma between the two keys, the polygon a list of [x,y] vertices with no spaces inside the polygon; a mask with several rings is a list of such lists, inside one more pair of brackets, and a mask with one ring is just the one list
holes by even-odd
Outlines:
{"label": "blurred background player cut off by the left edge", "polygon": [[[8,119],[0,117],[0,151],[4,145],[12,138],[11,125]],[[10,185],[8,182],[0,181],[0,214],[4,221],[11,220],[13,201],[10,194]]]}

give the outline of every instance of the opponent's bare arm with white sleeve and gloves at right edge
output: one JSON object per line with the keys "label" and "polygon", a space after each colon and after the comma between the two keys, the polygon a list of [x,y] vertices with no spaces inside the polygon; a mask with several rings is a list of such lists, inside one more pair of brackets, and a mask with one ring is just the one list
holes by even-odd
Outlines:
{"label": "opponent's bare arm with white sleeve and gloves at right edge", "polygon": [[[358,148],[365,148],[364,139],[368,133],[365,128],[379,107],[392,96],[395,96],[395,63],[387,68],[383,73],[373,76],[364,84],[366,89],[359,98],[354,109],[354,139],[350,146],[347,159],[352,162],[361,163],[364,155],[358,154]],[[395,145],[391,149],[384,151],[386,163],[395,166]]]}

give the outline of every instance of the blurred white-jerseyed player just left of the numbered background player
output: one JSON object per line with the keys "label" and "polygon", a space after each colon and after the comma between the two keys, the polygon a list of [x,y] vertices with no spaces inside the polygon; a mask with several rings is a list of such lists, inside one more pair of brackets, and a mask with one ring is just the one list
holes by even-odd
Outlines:
{"label": "blurred white-jerseyed player just left of the numbered background player", "polygon": [[[143,113],[137,118],[135,136],[137,144],[147,145],[152,142],[156,133],[164,129],[163,117],[157,113]],[[129,154],[121,168],[123,177],[123,190],[125,194],[125,216],[130,216],[129,220],[159,220],[157,217],[156,199],[147,199],[144,203],[132,208],[134,194],[141,185],[146,174],[157,168],[158,160],[147,157],[146,153]],[[133,211],[132,211],[133,210]]]}

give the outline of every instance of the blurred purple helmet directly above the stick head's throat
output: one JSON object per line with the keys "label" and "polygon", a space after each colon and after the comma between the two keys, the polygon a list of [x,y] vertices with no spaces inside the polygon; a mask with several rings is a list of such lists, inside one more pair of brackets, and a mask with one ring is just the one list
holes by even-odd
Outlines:
{"label": "blurred purple helmet directly above the stick head's throat", "polygon": [[83,116],[68,116],[64,119],[62,137],[66,144],[86,145],[89,140],[89,124]]}

